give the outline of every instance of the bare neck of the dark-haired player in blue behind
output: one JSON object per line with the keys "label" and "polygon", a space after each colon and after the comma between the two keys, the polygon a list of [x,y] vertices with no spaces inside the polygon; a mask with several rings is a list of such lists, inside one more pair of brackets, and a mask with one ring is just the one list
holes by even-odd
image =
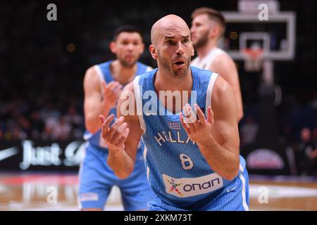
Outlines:
{"label": "bare neck of the dark-haired player in blue behind", "polygon": [[110,68],[113,79],[121,84],[127,84],[135,77],[135,73],[137,72],[137,63],[135,63],[132,67],[126,67],[122,65],[119,60],[114,60],[111,63]]}

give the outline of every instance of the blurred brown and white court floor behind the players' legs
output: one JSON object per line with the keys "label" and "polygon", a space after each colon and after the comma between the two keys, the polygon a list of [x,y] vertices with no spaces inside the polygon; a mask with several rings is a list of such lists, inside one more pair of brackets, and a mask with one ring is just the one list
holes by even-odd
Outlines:
{"label": "blurred brown and white court floor behind the players' legs", "polygon": [[[77,210],[77,174],[0,174],[0,210]],[[317,210],[317,179],[250,176],[250,210]],[[113,188],[105,210],[123,210]]]}

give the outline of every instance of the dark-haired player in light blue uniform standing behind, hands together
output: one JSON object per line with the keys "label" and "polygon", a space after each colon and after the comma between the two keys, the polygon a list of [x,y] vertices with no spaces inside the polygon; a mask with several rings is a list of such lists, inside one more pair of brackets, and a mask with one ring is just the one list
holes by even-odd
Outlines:
{"label": "dark-haired player in light blue uniform standing behind, hands together", "polygon": [[81,210],[103,210],[111,188],[120,188],[125,210],[146,210],[147,202],[154,199],[149,187],[140,144],[137,147],[135,169],[127,179],[118,179],[108,167],[108,148],[101,139],[101,124],[98,115],[116,115],[116,102],[121,89],[136,75],[151,70],[137,62],[144,51],[141,33],[132,26],[116,30],[110,49],[116,60],[94,65],[86,72],[85,132],[87,140],[85,158],[80,165],[78,202]]}

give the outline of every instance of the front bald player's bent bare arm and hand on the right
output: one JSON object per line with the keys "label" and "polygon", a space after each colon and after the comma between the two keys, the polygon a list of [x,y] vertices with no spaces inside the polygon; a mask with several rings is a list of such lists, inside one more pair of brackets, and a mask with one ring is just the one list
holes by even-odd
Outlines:
{"label": "front bald player's bent bare arm and hand on the right", "polygon": [[[237,103],[231,86],[218,77],[212,94],[212,108],[209,106],[207,118],[198,105],[199,120],[190,122],[189,105],[180,114],[182,126],[192,141],[195,141],[211,169],[227,180],[232,180],[239,172],[239,132],[237,127]],[[209,134],[209,135],[207,135]]]}

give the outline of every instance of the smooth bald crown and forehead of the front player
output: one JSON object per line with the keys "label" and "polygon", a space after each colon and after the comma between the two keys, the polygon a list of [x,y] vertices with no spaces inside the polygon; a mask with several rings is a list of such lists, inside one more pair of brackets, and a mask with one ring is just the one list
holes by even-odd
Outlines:
{"label": "smooth bald crown and forehead of the front player", "polygon": [[[151,42],[156,45],[160,38],[164,37],[164,34],[175,31],[189,31],[189,27],[185,20],[178,15],[166,15],[154,23],[151,28]],[[189,32],[190,34],[190,32]]]}

